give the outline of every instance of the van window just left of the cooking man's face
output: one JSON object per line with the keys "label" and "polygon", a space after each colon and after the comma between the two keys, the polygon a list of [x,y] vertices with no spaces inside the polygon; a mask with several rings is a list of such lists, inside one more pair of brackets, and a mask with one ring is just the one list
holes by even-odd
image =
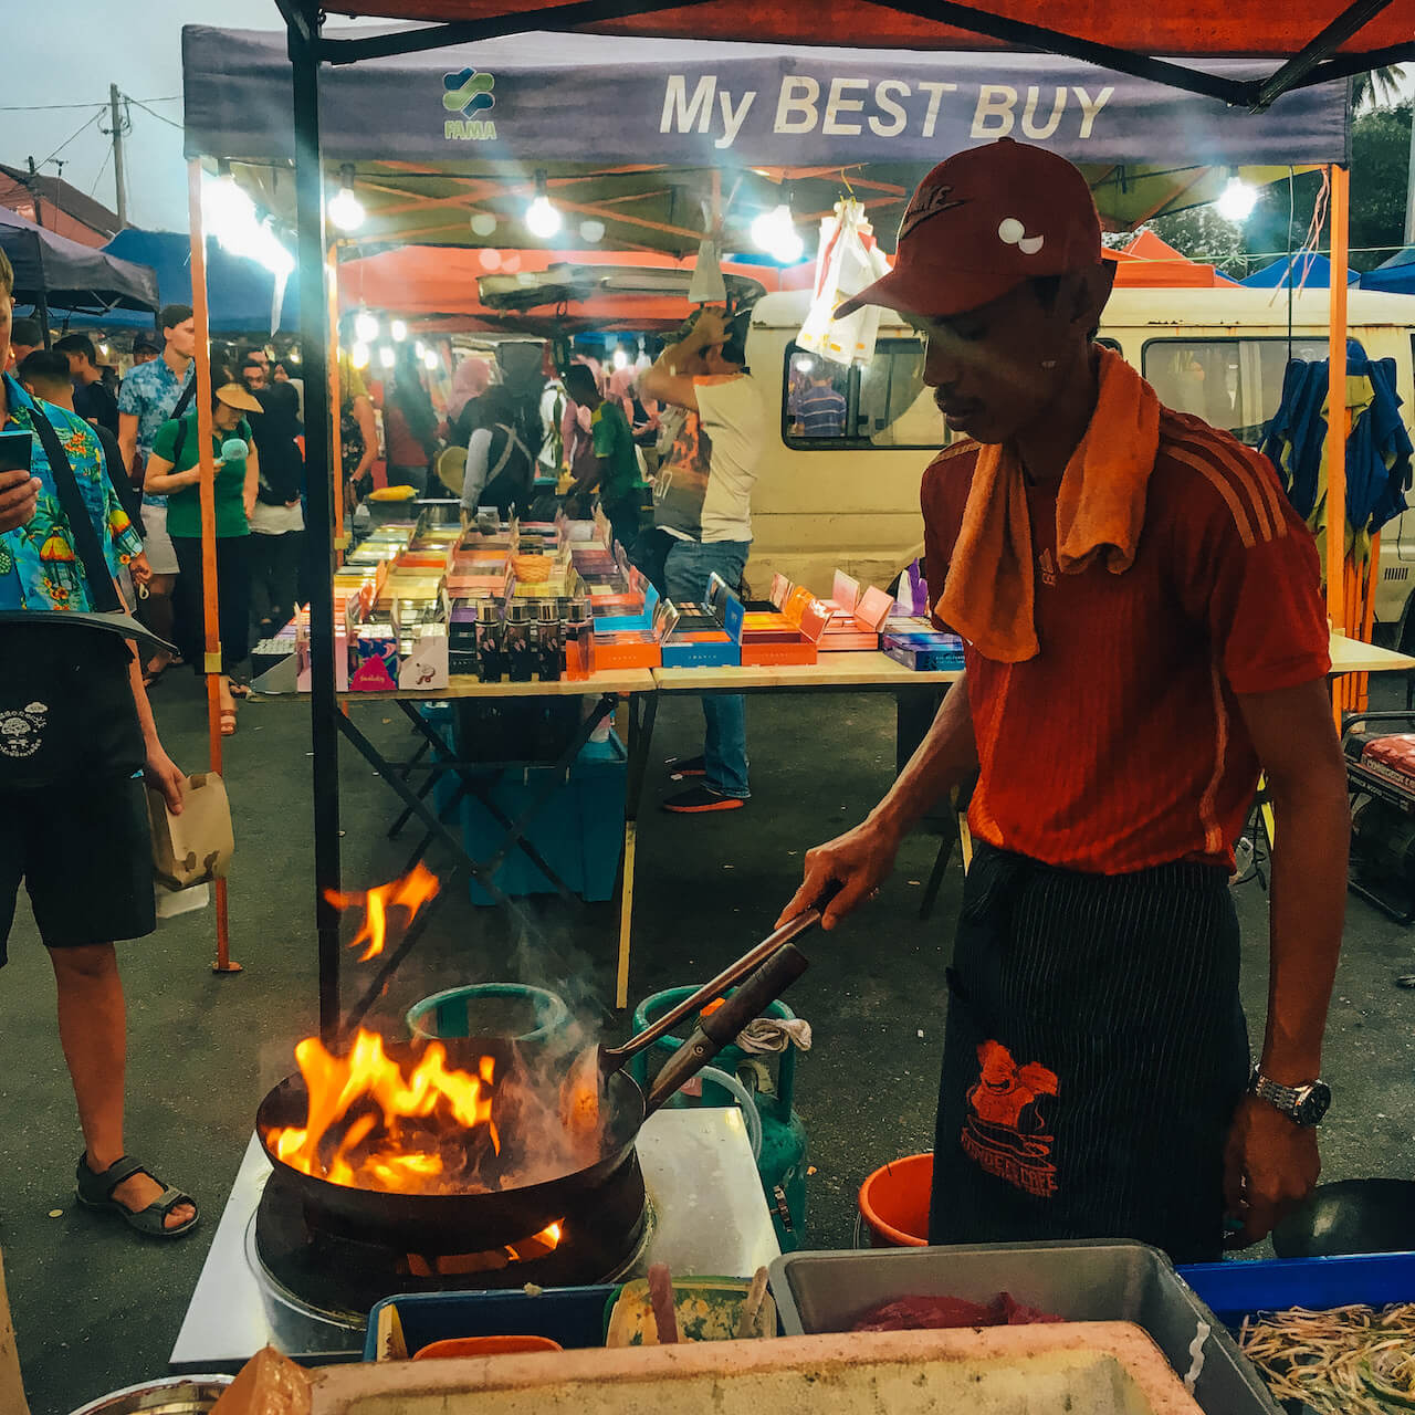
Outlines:
{"label": "van window just left of the cooking man's face", "polygon": [[802,451],[944,446],[944,426],[924,386],[924,345],[882,338],[863,368],[843,368],[787,345],[781,440]]}

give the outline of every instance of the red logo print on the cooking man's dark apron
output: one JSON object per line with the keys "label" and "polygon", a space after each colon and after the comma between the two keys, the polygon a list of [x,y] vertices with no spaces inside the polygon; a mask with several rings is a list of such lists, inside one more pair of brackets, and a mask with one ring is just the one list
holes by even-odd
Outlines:
{"label": "red logo print on the cooking man's dark apron", "polygon": [[978,1084],[968,1092],[968,1118],[959,1136],[964,1153],[995,1179],[1036,1199],[1050,1199],[1057,1191],[1051,1163],[1056,1136],[1043,1107],[1047,1097],[1057,1094],[1056,1071],[1036,1061],[1019,1067],[1000,1041],[978,1047]]}

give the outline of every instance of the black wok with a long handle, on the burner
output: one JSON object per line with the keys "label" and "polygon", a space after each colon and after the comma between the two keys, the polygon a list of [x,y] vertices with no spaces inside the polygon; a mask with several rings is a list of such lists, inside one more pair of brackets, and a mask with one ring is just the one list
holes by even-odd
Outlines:
{"label": "black wok with a long handle, on the burner", "polygon": [[[443,1251],[477,1252],[515,1242],[541,1232],[567,1214],[583,1211],[586,1200],[634,1157],[634,1140],[644,1121],[652,1115],[679,1087],[705,1067],[767,1003],[778,998],[805,972],[808,962],[792,945],[780,947],[720,1007],[700,1019],[692,1036],[674,1053],[654,1078],[645,1095],[625,1071],[604,1078],[600,1092],[601,1126],[597,1135],[573,1148],[574,1159],[565,1173],[538,1183],[518,1183],[516,1169],[528,1159],[525,1145],[535,1145],[535,1136],[518,1129],[511,1118],[499,1156],[488,1157],[481,1166],[481,1177],[494,1186],[487,1191],[454,1194],[388,1193],[374,1189],[354,1189],[331,1184],[314,1174],[306,1174],[282,1160],[266,1142],[272,1129],[303,1126],[308,1114],[308,1094],[304,1078],[291,1075],[282,1081],[260,1102],[256,1112],[256,1135],[276,1179],[299,1194],[306,1214],[323,1227],[355,1235],[378,1238],[389,1244],[426,1242],[436,1232]],[[710,989],[710,985],[709,985]],[[712,992],[705,989],[703,1000]],[[624,1050],[649,1044],[658,1029],[641,1033]],[[508,1058],[507,1039],[458,1039],[449,1046],[451,1064],[475,1068],[480,1056],[495,1056],[498,1065]],[[422,1054],[410,1044],[386,1047],[400,1064]],[[502,1071],[501,1074],[505,1074]],[[498,1094],[505,1090],[498,1084]],[[548,1111],[555,1131],[549,1138],[565,1143],[559,1121],[558,1088],[550,1087]],[[494,1119],[495,1119],[494,1112]],[[501,1126],[498,1125],[498,1129]],[[546,1132],[542,1132],[546,1133]]]}

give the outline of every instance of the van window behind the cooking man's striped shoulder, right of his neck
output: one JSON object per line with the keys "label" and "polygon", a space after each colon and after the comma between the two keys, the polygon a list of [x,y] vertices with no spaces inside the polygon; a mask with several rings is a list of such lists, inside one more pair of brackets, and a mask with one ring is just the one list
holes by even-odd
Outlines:
{"label": "van window behind the cooking man's striped shoulder, right of his neck", "polygon": [[[1146,381],[1166,408],[1193,413],[1257,447],[1282,402],[1288,341],[1150,340],[1145,345]],[[1293,340],[1292,358],[1323,359],[1326,340]]]}

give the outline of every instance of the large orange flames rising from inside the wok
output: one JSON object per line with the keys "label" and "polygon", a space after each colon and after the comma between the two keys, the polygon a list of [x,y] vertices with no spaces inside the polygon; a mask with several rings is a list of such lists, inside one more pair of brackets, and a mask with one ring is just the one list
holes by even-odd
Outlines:
{"label": "large orange flames rising from inside the wok", "polygon": [[501,1153],[491,1119],[494,1057],[481,1057],[475,1075],[450,1071],[447,1049],[430,1041],[405,1077],[383,1039],[361,1027],[348,1056],[306,1037],[294,1058],[310,1092],[306,1124],[269,1131],[266,1145],[303,1174],[393,1193],[466,1190],[461,1176],[447,1174],[449,1159],[456,1167],[483,1142]]}

